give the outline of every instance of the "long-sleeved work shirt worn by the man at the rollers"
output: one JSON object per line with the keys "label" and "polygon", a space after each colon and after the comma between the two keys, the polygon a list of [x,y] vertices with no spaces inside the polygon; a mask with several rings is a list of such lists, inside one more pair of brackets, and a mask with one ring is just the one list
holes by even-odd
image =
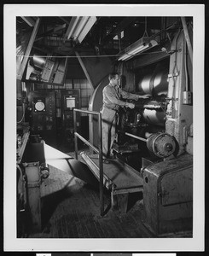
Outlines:
{"label": "long-sleeved work shirt worn by the man at the rollers", "polygon": [[121,101],[121,98],[137,101],[139,96],[122,90],[117,85],[112,86],[111,84],[107,84],[107,86],[105,86],[105,88],[103,89],[104,107],[111,108],[113,110],[119,110],[119,106],[125,106],[125,102]]}

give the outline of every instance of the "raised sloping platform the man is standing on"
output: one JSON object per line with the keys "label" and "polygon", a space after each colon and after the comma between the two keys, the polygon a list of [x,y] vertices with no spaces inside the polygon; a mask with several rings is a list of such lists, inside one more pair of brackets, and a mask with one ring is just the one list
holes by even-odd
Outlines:
{"label": "raised sloping platform the man is standing on", "polygon": [[[99,155],[80,153],[91,172],[99,180]],[[111,189],[111,205],[126,212],[129,193],[140,192],[143,189],[143,179],[139,172],[121,160],[108,160],[103,163],[103,184]]]}

